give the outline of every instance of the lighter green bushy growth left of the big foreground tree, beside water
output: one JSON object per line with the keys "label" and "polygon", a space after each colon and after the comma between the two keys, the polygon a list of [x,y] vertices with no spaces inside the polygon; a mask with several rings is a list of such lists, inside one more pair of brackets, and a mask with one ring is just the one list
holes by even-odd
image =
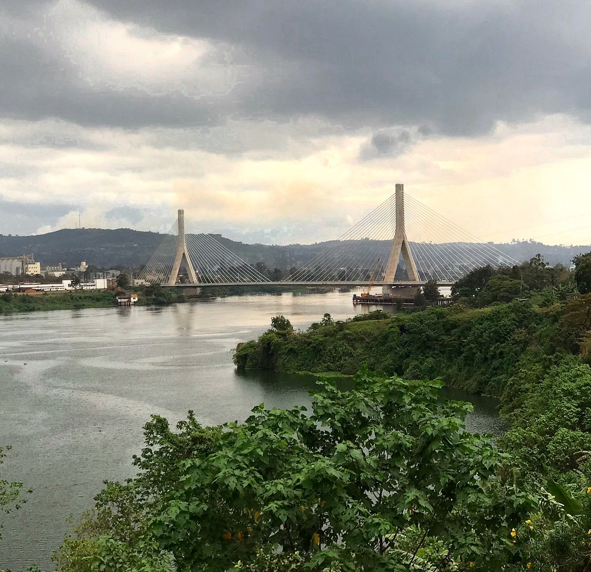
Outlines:
{"label": "lighter green bushy growth left of the big foreground tree, beside water", "polygon": [[177,432],[171,430],[167,420],[152,415],[144,427],[142,454],[134,456],[138,477],[105,483],[95,509],[56,551],[58,572],[177,570],[171,554],[154,542],[149,518],[160,495],[178,484],[181,463],[215,450],[219,429],[202,428],[192,411],[176,428]]}

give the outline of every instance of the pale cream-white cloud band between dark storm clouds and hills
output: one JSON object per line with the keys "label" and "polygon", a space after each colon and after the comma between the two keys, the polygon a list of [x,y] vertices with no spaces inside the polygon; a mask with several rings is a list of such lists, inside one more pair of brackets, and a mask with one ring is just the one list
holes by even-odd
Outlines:
{"label": "pale cream-white cloud band between dark storm clouds and hills", "polygon": [[[236,127],[247,132],[249,124]],[[265,129],[281,129],[254,127],[262,137]],[[74,137],[81,146],[31,144],[52,130],[55,141]],[[138,229],[162,229],[184,208],[203,230],[285,227],[298,240],[313,242],[345,232],[402,182],[415,199],[483,239],[551,235],[550,243],[591,242],[588,230],[554,235],[584,226],[563,219],[591,213],[591,129],[567,116],[517,127],[499,124],[478,139],[423,138],[395,158],[372,161],[358,158],[369,131],[307,139],[285,132],[282,151],[228,155],[199,148],[202,132],[190,135],[194,148],[184,141],[174,147],[175,132],[167,133],[168,145],[162,147],[150,130],[5,122],[0,152],[4,164],[20,174],[1,180],[0,195],[78,204],[83,226],[133,226],[105,217],[115,207],[131,206],[145,212]],[[77,214],[73,209],[31,230],[74,226]]]}

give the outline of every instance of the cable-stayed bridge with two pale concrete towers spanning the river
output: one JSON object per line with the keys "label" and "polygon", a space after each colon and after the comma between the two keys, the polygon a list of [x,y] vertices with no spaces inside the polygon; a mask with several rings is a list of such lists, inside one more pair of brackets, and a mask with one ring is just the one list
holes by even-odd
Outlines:
{"label": "cable-stayed bridge with two pale concrete towers spanning the river", "polygon": [[[163,242],[139,275],[140,280],[167,286],[326,285],[381,286],[397,295],[427,281],[452,285],[471,270],[518,261],[481,241],[423,203],[405,195],[402,184],[322,251],[304,261],[290,277],[269,280],[252,264],[213,236],[187,225],[178,211]],[[179,284],[180,269],[186,282]]]}

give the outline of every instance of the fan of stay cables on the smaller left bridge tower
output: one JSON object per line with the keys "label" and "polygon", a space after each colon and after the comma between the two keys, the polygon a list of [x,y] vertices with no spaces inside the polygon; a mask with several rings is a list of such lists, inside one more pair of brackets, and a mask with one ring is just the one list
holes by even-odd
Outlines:
{"label": "fan of stay cables on the smaller left bridge tower", "polygon": [[[177,235],[178,220],[139,275],[140,279],[158,284],[165,284],[170,280],[177,252]],[[185,244],[187,256],[200,284],[248,284],[269,281],[211,235],[187,227],[186,223]]]}

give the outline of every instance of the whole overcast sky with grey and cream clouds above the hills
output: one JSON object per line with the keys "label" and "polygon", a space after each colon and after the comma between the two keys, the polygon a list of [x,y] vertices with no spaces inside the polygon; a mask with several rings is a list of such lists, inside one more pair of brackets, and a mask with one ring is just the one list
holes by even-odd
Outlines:
{"label": "whole overcast sky with grey and cream clouds above the hills", "polygon": [[591,243],[591,2],[3,0],[0,233],[336,238],[395,183]]}

